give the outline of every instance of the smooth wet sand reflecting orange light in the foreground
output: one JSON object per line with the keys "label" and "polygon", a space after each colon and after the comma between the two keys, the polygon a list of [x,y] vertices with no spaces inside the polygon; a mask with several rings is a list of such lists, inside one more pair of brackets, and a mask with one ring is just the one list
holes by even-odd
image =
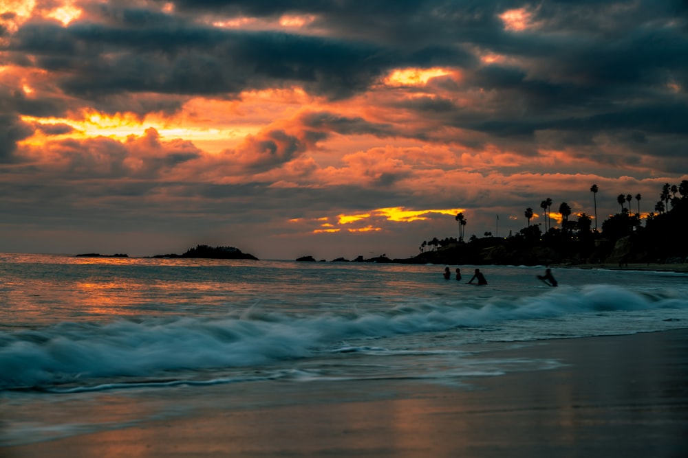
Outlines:
{"label": "smooth wet sand reflecting orange light in the foreground", "polygon": [[515,345],[490,356],[563,365],[453,387],[272,382],[259,395],[252,388],[255,402],[222,385],[189,415],[3,447],[0,457],[688,456],[688,330]]}

